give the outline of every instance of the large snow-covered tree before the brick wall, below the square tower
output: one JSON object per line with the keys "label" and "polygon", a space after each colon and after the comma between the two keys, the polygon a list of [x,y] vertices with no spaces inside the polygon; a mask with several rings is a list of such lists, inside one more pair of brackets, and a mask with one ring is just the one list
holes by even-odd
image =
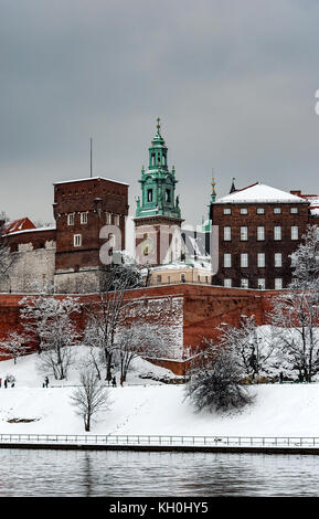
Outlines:
{"label": "large snow-covered tree before the brick wall, below the square tower", "polygon": [[55,379],[65,379],[72,362],[71,347],[79,338],[72,320],[81,311],[78,299],[39,295],[26,296],[21,303],[24,328],[33,332],[39,341],[39,369],[51,372]]}

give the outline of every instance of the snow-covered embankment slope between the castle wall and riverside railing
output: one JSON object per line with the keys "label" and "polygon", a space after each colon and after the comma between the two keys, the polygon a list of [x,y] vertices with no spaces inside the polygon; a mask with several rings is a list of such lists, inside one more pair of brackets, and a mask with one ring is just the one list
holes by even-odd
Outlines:
{"label": "snow-covered embankment slope between the castle wall and riverside railing", "polygon": [[[83,434],[83,423],[70,403],[78,383],[75,371],[64,383],[51,380],[50,388],[42,388],[36,357],[19,359],[17,366],[12,360],[0,362],[0,433]],[[182,384],[157,385],[139,379],[141,372],[159,374],[161,368],[136,362],[128,379],[131,385],[109,388],[110,410],[100,414],[91,434],[319,436],[319,383],[260,384],[251,389],[256,393],[252,406],[210,414],[195,413],[183,401]],[[3,388],[8,373],[17,379],[14,388]],[[14,419],[34,421],[8,422]]]}

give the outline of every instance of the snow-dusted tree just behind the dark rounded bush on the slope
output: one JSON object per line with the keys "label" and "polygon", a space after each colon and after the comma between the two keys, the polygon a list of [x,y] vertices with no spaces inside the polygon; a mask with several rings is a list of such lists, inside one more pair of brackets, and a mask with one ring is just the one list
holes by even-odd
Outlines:
{"label": "snow-dusted tree just behind the dark rounded bush on the slope", "polygon": [[258,379],[260,374],[267,374],[270,369],[274,343],[269,335],[257,327],[255,316],[241,316],[237,327],[222,324],[220,331],[221,347],[234,348],[243,374],[253,380]]}

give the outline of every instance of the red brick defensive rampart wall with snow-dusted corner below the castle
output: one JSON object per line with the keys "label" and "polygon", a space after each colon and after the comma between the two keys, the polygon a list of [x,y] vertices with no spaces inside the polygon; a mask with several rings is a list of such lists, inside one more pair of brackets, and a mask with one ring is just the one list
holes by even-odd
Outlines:
{"label": "red brick defensive rampart wall with snow-dusted corner below the castle", "polygon": [[[168,353],[157,361],[159,366],[183,374],[187,358],[203,340],[215,338],[222,322],[237,325],[242,315],[254,315],[257,325],[267,324],[267,311],[275,290],[225,288],[180,283],[127,290],[126,320],[148,322],[156,333],[164,329]],[[23,330],[20,321],[21,299],[25,294],[0,294],[0,340],[9,331]],[[65,295],[54,295],[63,298]],[[98,295],[74,295],[79,303],[98,303]],[[79,329],[86,321],[85,310],[75,315]]]}

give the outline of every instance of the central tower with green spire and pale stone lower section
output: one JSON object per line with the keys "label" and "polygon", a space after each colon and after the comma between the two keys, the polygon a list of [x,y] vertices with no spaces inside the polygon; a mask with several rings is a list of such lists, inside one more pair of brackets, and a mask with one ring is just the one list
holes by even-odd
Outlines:
{"label": "central tower with green spire and pale stone lower section", "polygon": [[176,170],[168,167],[168,148],[161,136],[160,119],[149,148],[149,166],[142,166],[141,199],[135,216],[136,251],[141,264],[161,265],[181,256],[182,223],[179,197],[176,197]]}

